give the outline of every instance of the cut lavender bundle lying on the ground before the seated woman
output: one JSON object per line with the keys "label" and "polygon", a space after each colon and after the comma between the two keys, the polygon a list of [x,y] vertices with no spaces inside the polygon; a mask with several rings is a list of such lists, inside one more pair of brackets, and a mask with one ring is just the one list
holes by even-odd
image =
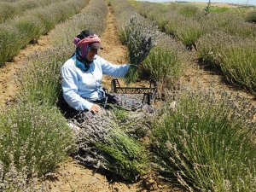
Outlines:
{"label": "cut lavender bundle lying on the ground before the seated woman", "polygon": [[104,110],[79,126],[74,158],[80,164],[108,170],[130,181],[145,172],[148,164],[143,145],[119,129],[113,113]]}

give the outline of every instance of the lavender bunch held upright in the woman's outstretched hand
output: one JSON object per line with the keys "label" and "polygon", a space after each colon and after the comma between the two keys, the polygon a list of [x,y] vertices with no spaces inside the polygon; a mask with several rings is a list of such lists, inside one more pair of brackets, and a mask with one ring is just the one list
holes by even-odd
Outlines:
{"label": "lavender bunch held upright in the woman's outstretched hand", "polygon": [[155,33],[154,27],[139,20],[137,15],[131,18],[129,25],[123,30],[122,40],[128,47],[129,62],[131,63],[131,67],[125,75],[125,83],[130,84],[137,80],[137,67],[154,46]]}

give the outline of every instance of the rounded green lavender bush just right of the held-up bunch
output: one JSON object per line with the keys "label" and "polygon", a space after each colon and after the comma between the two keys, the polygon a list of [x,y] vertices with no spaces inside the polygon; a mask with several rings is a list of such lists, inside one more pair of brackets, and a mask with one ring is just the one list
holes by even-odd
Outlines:
{"label": "rounded green lavender bush just right of the held-up bunch", "polygon": [[182,44],[174,39],[162,38],[143,61],[143,69],[151,78],[157,79],[160,92],[171,88],[179,79],[188,65]]}

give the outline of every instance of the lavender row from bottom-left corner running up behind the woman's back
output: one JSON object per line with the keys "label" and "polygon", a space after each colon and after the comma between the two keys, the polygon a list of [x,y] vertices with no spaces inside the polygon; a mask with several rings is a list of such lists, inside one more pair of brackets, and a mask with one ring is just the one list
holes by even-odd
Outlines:
{"label": "lavender row from bottom-left corner running up behind the woman's back", "polygon": [[[106,17],[107,6],[102,0],[90,3],[91,7],[66,24],[58,27],[84,30],[90,22],[95,22],[95,29],[102,32],[102,18]],[[96,9],[105,8],[102,15],[91,20]],[[88,15],[87,15],[88,14]],[[104,15],[105,14],[105,15]],[[89,16],[91,15],[91,17]],[[88,18],[84,22],[84,18]],[[69,25],[69,26],[68,26]],[[64,32],[63,29],[61,32]],[[96,31],[97,32],[97,31]],[[61,33],[61,38],[69,38],[67,46],[62,42],[43,52],[31,55],[26,62],[26,69],[21,74],[22,84],[16,106],[0,115],[0,190],[26,191],[28,183],[35,177],[55,169],[64,160],[72,145],[73,133],[67,120],[55,107],[60,93],[59,69],[72,55],[74,35]],[[49,34],[49,38],[54,37]],[[38,188],[32,189],[39,191]]]}

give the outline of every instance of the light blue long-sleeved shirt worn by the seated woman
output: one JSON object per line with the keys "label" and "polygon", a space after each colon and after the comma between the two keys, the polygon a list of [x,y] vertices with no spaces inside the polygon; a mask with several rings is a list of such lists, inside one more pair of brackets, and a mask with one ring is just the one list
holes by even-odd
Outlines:
{"label": "light blue long-sleeved shirt worn by the seated woman", "polygon": [[93,103],[86,100],[102,98],[102,75],[123,78],[130,65],[113,65],[96,55],[87,72],[76,66],[76,56],[67,60],[61,67],[61,86],[68,105],[76,110],[90,110]]}

